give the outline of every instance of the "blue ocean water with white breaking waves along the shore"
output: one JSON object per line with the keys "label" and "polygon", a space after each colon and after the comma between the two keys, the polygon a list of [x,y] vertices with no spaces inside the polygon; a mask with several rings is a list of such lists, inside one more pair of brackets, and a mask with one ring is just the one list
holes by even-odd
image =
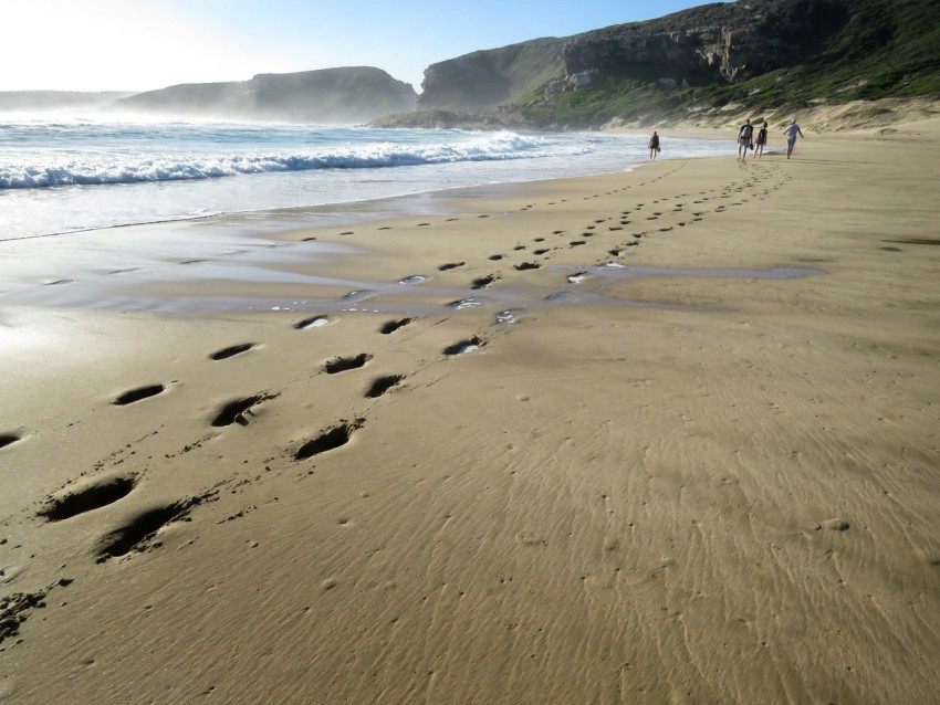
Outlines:
{"label": "blue ocean water with white breaking waves along the shore", "polygon": [[[0,115],[0,240],[616,172],[645,136]],[[661,158],[728,154],[664,137]]]}

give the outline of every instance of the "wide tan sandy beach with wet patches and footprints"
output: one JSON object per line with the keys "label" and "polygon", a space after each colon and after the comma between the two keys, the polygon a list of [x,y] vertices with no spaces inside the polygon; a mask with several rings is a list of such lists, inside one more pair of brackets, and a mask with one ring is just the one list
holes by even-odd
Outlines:
{"label": "wide tan sandy beach with wet patches and footprints", "polygon": [[781,141],[2,244],[0,703],[940,702],[940,122]]}

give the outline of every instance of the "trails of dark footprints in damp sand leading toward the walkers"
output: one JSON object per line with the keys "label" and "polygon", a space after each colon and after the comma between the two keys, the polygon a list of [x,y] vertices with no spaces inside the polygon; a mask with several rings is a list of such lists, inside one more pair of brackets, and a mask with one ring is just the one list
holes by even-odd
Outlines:
{"label": "trails of dark footprints in damp sand leading toward the walkers", "polygon": [[[664,179],[681,168],[682,167],[680,165],[670,171],[660,173],[648,182],[640,183],[640,186]],[[613,235],[615,238],[628,234],[629,239],[627,241],[617,242],[613,244],[613,246],[608,244],[608,249],[605,250],[606,254],[614,257],[622,256],[627,253],[630,248],[638,245],[640,240],[645,236],[655,232],[669,232],[675,227],[685,228],[691,225],[694,222],[701,221],[709,211],[721,213],[728,208],[745,204],[744,194],[750,194],[760,199],[767,196],[771,190],[783,185],[783,181],[779,180],[776,183],[761,189],[761,185],[767,179],[769,171],[766,169],[763,169],[760,172],[758,171],[758,169],[754,169],[748,178],[740,182],[734,181],[724,188],[714,188],[700,191],[698,193],[682,193],[677,198],[652,200],[650,203],[635,203],[631,209],[622,210],[612,217],[596,218],[593,222],[586,224],[575,236],[572,236],[564,230],[555,230],[546,235],[536,236],[533,239],[533,242],[539,246],[532,250],[531,254],[536,257],[550,257],[553,251],[560,249],[560,246],[552,246],[550,244],[550,239],[552,238],[564,241],[564,244],[562,244],[561,248],[578,248],[587,245],[593,238],[600,234],[606,234],[608,236]],[[628,187],[607,194],[610,196],[626,190],[628,190]],[[599,198],[599,196],[600,194],[595,194],[594,197],[586,198]],[[549,202],[547,204],[553,206],[554,202]],[[535,204],[526,204],[521,210],[525,211],[533,208],[535,208]],[[658,221],[666,217],[671,217],[675,223],[665,223],[659,225]],[[488,218],[488,215],[481,214],[479,218]],[[446,222],[457,220],[457,218],[449,218]],[[639,224],[637,221],[645,221],[648,225],[646,229],[643,229],[641,227],[637,228]],[[417,227],[430,228],[432,224],[429,222],[420,222],[417,223]],[[389,227],[382,227],[380,229],[390,230]],[[340,234],[343,236],[349,236],[354,234],[354,231],[344,231]],[[513,248],[513,252],[524,253],[528,251],[528,245],[520,243]],[[488,260],[491,262],[500,262],[505,257],[506,255],[503,253],[494,253],[490,255]],[[452,270],[464,267],[466,265],[466,261],[447,262],[440,264],[437,269],[440,272],[450,272]],[[537,261],[531,261],[530,259],[516,262],[512,264],[512,266],[518,272],[525,272],[530,270],[537,270],[542,266],[542,264]],[[414,283],[419,283],[421,281],[426,281],[426,278],[427,277],[424,276],[406,277],[406,280],[403,280],[401,283],[411,283],[409,280],[414,280]],[[479,276],[470,281],[469,288],[471,291],[484,290],[497,284],[500,278],[499,272]],[[567,281],[570,283],[578,283],[584,281],[584,278],[585,273],[579,272],[568,276]],[[353,292],[351,296],[358,297],[366,294],[367,293],[364,292]],[[451,307],[459,309],[463,307],[464,304],[469,305],[467,299],[453,302]],[[511,312],[503,312],[500,316],[504,316],[504,314],[511,314]],[[512,316],[510,315],[508,318],[504,316],[502,319],[511,318]],[[498,320],[501,320],[499,316]],[[335,322],[328,315],[315,315],[294,323],[293,327],[297,330],[309,330],[327,326],[332,323]],[[384,323],[378,328],[377,333],[385,336],[393,335],[414,323],[415,319],[411,317],[390,319]],[[473,335],[447,346],[441,350],[441,354],[445,358],[455,357],[478,350],[485,345],[487,340],[483,337]],[[207,357],[210,362],[223,362],[255,350],[259,347],[261,346],[258,343],[239,343],[237,345],[220,348],[219,350],[209,354]],[[368,352],[361,352],[345,357],[338,356],[325,361],[321,367],[321,371],[325,375],[352,373],[355,370],[366,368],[372,359],[373,355]],[[366,399],[378,399],[400,388],[406,378],[407,376],[404,373],[385,375],[374,378],[368,382],[363,396]],[[127,407],[144,403],[147,400],[153,400],[158,398],[160,394],[166,393],[170,389],[171,385],[173,382],[150,383],[135,387],[115,397],[112,404],[117,407]],[[279,392],[263,391],[249,397],[230,400],[221,404],[221,407],[216,410],[215,415],[209,420],[209,424],[215,429],[224,429],[232,425],[247,427],[250,424],[251,418],[254,415],[254,411],[261,406],[274,401],[278,396]],[[289,457],[294,463],[304,463],[323,453],[336,451],[348,444],[352,441],[353,435],[359,432],[365,424],[366,418],[364,417],[357,417],[353,420],[340,420],[334,424],[322,429],[309,440],[300,443],[293,451],[289,451]],[[25,436],[20,432],[0,432],[0,452],[14,443],[22,441],[24,438]],[[187,452],[194,448],[198,448],[200,443],[201,441],[187,445],[181,452]],[[119,452],[113,455],[117,455]],[[117,462],[123,461],[114,462],[116,464]],[[96,466],[96,470],[102,470],[103,465],[104,463],[101,463]],[[234,482],[237,482],[237,478],[234,477],[226,481],[226,483]],[[239,484],[250,482],[253,481],[243,478],[239,481]],[[46,503],[38,512],[38,516],[49,523],[64,522],[75,516],[118,503],[130,496],[133,493],[140,492],[142,490],[139,488],[139,484],[140,475],[134,473],[104,476],[92,482],[86,481],[79,488],[67,487],[51,495]],[[169,504],[144,509],[132,516],[124,524],[102,536],[97,544],[92,548],[92,555],[97,561],[105,561],[112,558],[119,558],[133,553],[155,548],[160,545],[158,534],[161,528],[176,522],[188,520],[194,508],[207,502],[215,501],[218,497],[218,493],[219,488],[212,487],[196,496],[184,497]],[[230,518],[238,518],[243,514],[244,512],[240,512]]]}

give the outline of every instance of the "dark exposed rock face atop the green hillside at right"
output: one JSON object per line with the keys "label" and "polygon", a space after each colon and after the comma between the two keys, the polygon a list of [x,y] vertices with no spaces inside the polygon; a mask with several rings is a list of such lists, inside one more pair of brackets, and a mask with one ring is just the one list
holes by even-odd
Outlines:
{"label": "dark exposed rock face atop the green hillside at right", "polygon": [[843,0],[712,3],[587,32],[562,52],[568,76],[655,65],[733,83],[800,63],[848,19]]}

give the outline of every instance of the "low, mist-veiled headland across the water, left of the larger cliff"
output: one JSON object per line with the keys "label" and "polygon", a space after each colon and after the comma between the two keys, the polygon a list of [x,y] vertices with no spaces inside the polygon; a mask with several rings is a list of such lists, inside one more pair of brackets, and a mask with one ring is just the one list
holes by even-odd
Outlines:
{"label": "low, mist-veiled headland across the water, left of the larger cliff", "polygon": [[184,116],[357,123],[415,108],[407,83],[369,66],[259,74],[250,81],[192,83],[117,101],[122,111]]}

